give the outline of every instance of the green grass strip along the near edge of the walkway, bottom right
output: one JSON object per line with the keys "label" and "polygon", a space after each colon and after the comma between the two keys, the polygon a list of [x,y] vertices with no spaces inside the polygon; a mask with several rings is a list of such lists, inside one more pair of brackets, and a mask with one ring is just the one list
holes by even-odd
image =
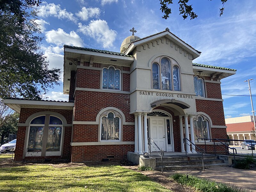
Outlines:
{"label": "green grass strip along the near edge of the walkway, bottom right", "polygon": [[171,176],[171,178],[182,185],[194,187],[196,190],[201,192],[246,192],[247,191],[245,189],[241,189],[236,186],[217,183],[215,181],[201,179],[192,175],[188,175],[187,177],[187,175],[175,173]]}

